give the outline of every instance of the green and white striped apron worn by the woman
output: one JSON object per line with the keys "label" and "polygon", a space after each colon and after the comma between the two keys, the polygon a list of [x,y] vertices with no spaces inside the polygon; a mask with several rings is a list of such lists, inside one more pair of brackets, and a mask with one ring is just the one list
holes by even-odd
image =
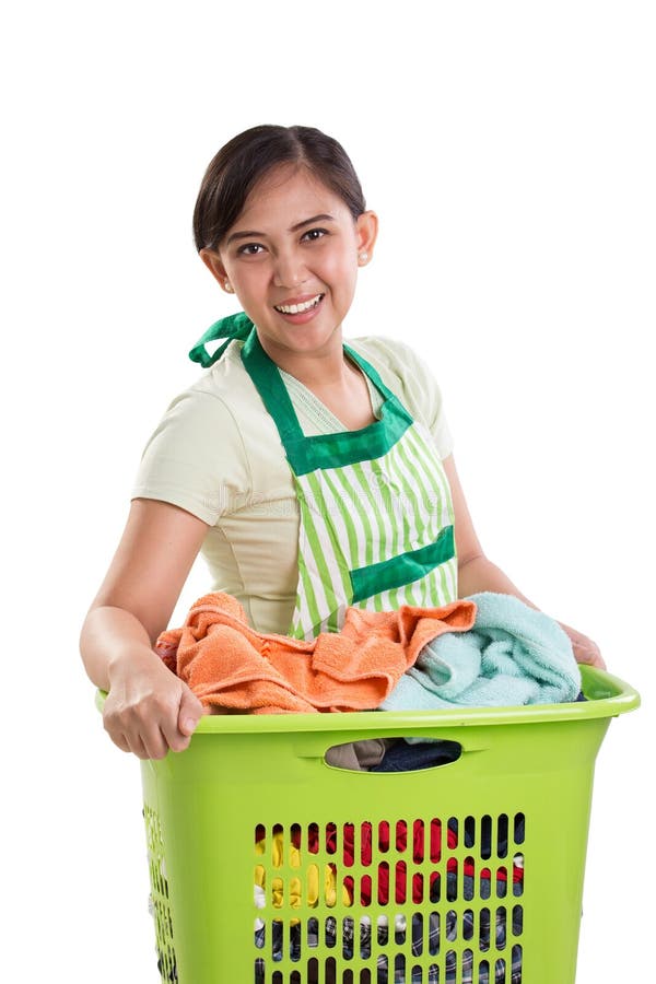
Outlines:
{"label": "green and white striped apron worn by the woman", "polygon": [[457,598],[450,490],[429,430],[376,370],[344,345],[383,397],[360,431],[306,437],[255,329],[242,361],[273,418],[300,507],[298,586],[289,634],[341,629],[351,605],[391,611]]}

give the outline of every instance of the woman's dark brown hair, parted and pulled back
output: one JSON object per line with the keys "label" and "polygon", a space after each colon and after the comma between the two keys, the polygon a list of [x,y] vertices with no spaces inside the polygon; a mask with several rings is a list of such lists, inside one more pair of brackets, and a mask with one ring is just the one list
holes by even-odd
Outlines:
{"label": "woman's dark brown hair, parted and pulled back", "polygon": [[212,159],[194,209],[196,248],[216,249],[241,215],[255,185],[280,164],[306,167],[358,219],[365,211],[355,169],[343,147],[314,127],[251,127]]}

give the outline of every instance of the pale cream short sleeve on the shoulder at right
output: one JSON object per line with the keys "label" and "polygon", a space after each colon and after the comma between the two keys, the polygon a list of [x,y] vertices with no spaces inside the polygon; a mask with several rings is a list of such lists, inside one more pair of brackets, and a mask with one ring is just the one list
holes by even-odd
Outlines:
{"label": "pale cream short sleeve on the shoulder at right", "polygon": [[414,420],[421,421],[433,435],[440,457],[448,458],[454,449],[440,386],[425,360],[410,345],[387,338],[358,339],[353,343],[379,371],[383,382],[399,397]]}

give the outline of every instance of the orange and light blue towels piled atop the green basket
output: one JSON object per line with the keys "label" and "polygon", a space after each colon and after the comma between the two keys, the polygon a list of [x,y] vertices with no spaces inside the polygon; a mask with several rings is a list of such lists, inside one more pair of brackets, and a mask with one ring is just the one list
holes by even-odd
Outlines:
{"label": "orange and light blue towels piled atop the green basket", "polygon": [[483,591],[441,609],[351,607],[339,632],[255,632],[235,598],[199,599],[156,643],[211,713],[519,706],[574,701],[572,642],[543,612]]}

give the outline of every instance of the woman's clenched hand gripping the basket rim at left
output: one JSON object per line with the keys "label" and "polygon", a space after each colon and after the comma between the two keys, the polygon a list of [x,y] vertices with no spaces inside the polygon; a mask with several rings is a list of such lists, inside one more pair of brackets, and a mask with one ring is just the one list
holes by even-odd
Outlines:
{"label": "woman's clenched hand gripping the basket rim at left", "polygon": [[110,673],[105,729],[122,751],[163,759],[189,745],[203,706],[152,649],[130,654]]}

